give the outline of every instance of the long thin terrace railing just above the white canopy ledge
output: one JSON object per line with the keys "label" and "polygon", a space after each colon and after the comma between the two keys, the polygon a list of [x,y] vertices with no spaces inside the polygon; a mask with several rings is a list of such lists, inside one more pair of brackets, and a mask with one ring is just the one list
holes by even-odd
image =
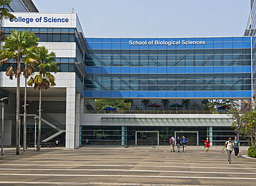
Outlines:
{"label": "long thin terrace railing just above the white canopy ledge", "polygon": [[109,113],[109,114],[228,114],[227,111],[102,111],[86,110],[85,113]]}

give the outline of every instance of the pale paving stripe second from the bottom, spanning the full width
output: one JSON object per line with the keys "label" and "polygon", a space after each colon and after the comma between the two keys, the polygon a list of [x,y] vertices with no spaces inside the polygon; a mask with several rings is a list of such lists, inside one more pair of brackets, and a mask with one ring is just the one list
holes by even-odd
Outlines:
{"label": "pale paving stripe second from the bottom, spanning the full width", "polygon": [[199,176],[142,176],[142,175],[116,175],[116,174],[0,174],[1,176],[66,176],[66,177],[126,177],[126,178],[182,178],[182,179],[220,179],[220,180],[256,180],[256,178],[233,178],[233,177],[199,177]]}

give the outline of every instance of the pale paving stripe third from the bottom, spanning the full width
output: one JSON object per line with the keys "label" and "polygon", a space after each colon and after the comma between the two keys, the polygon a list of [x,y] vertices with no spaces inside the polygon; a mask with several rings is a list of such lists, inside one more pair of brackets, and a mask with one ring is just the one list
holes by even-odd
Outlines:
{"label": "pale paving stripe third from the bottom, spanning the full width", "polygon": [[161,171],[161,170],[134,170],[134,169],[0,169],[15,171],[134,171],[134,172],[165,172],[191,174],[256,174],[255,172],[219,172],[219,171]]}

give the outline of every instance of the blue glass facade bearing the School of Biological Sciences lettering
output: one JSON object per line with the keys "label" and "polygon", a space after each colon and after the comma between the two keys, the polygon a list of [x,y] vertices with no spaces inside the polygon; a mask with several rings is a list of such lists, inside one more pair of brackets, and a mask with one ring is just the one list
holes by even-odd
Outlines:
{"label": "blue glass facade bearing the School of Biological Sciences lettering", "polygon": [[86,38],[84,97],[250,98],[250,37]]}

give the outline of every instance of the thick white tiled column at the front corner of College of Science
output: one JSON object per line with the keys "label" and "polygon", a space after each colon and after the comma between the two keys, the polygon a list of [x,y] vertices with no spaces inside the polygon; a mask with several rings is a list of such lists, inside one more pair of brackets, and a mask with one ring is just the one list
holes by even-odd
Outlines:
{"label": "thick white tiled column at the front corner of College of Science", "polygon": [[75,149],[75,81],[73,82],[66,88],[66,149]]}

